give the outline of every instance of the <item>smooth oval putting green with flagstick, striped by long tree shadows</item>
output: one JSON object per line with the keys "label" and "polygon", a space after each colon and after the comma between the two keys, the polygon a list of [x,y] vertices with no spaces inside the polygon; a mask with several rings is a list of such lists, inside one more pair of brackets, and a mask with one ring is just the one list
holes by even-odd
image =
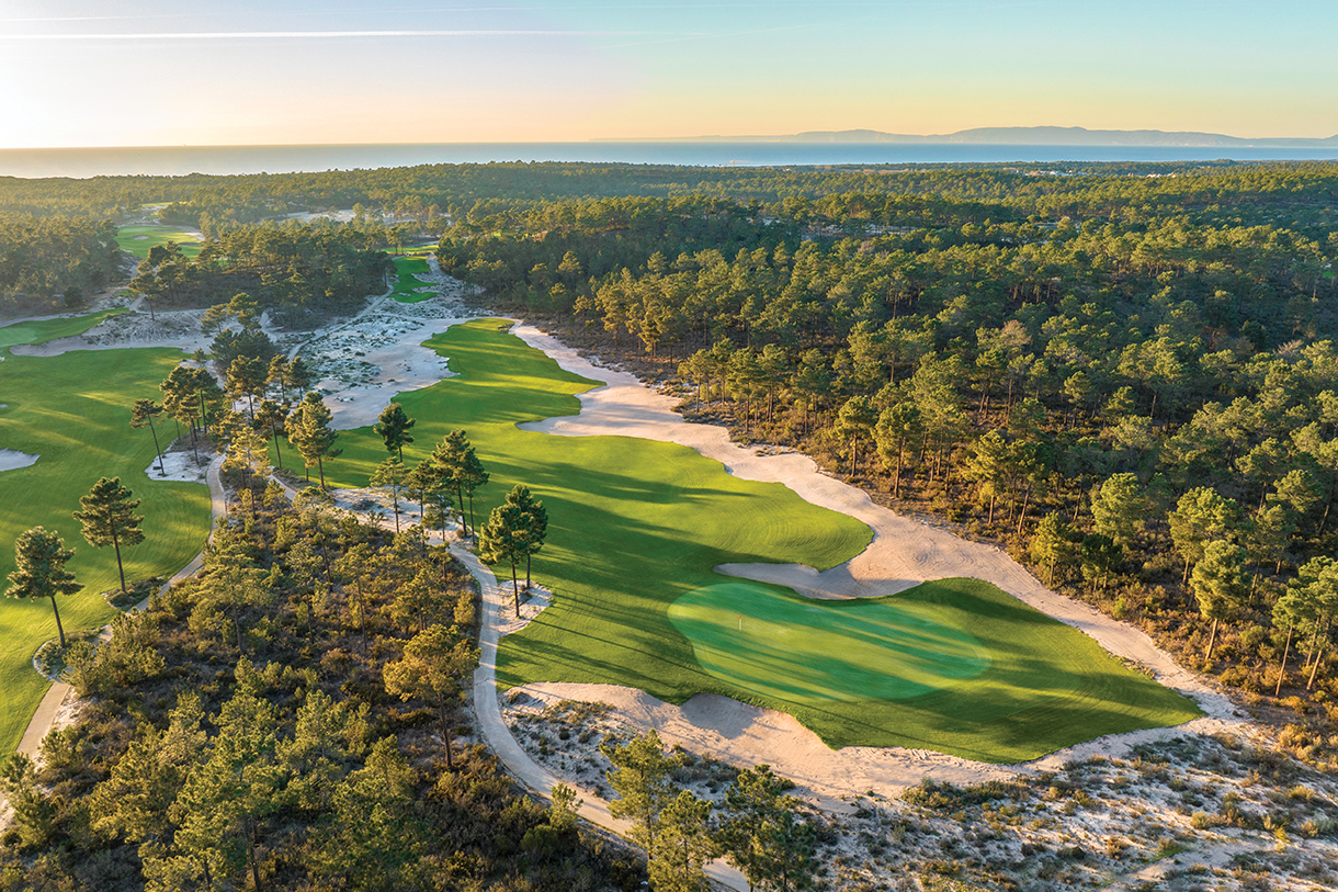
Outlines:
{"label": "smooth oval putting green with flagstick, striped by long tree shadows", "polygon": [[669,607],[704,670],[809,704],[904,700],[975,678],[990,655],[946,619],[933,604],[814,601],[759,583],[698,588]]}

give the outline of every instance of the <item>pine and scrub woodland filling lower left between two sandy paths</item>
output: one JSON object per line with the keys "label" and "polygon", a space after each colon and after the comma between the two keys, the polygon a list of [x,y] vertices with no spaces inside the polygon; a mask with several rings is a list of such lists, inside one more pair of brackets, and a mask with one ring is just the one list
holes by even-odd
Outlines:
{"label": "pine and scrub woodland filling lower left between two sandy paths", "polygon": [[478,604],[448,553],[260,501],[197,577],[71,648],[90,706],[0,778],[0,888],[636,889],[634,856],[471,743]]}

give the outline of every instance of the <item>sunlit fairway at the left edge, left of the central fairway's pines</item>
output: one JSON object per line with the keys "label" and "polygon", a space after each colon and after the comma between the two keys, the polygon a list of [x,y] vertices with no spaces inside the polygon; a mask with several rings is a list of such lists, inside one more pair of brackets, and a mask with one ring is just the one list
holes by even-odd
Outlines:
{"label": "sunlit fairway at the left edge, left of the central fairway's pines", "polygon": [[[51,323],[35,325],[47,327],[52,338],[71,333]],[[25,529],[58,530],[75,549],[70,568],[86,587],[59,600],[67,632],[100,625],[112,615],[100,592],[118,585],[115,554],[88,545],[71,517],[99,477],[119,475],[143,500],[146,540],[123,549],[127,580],[177,572],[209,533],[209,490],[146,477],[153,438],[149,430],[130,427],[134,399],[161,398],[158,383],[181,356],[174,350],[108,350],[0,362],[0,403],[8,404],[0,408],[0,449],[40,455],[31,467],[0,471],[0,585],[8,588],[13,542]],[[166,445],[171,422],[158,435]],[[0,599],[0,759],[17,746],[48,687],[31,660],[55,636],[50,601]]]}

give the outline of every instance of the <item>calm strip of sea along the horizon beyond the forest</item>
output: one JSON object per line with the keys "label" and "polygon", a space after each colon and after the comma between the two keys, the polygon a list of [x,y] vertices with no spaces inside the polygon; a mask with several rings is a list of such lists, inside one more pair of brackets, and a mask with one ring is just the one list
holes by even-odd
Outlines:
{"label": "calm strip of sea along the horizon beyond the forest", "polygon": [[545,142],[324,146],[0,149],[0,177],[293,173],[502,161],[692,166],[826,166],[1092,161],[1338,161],[1338,149],[886,145],[805,142]]}

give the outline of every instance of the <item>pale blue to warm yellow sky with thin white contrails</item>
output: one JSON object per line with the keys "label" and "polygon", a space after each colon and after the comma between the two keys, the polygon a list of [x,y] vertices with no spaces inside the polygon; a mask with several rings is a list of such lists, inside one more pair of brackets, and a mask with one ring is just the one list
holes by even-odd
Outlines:
{"label": "pale blue to warm yellow sky with thin white contrails", "polygon": [[0,0],[0,147],[1338,134],[1333,0]]}

